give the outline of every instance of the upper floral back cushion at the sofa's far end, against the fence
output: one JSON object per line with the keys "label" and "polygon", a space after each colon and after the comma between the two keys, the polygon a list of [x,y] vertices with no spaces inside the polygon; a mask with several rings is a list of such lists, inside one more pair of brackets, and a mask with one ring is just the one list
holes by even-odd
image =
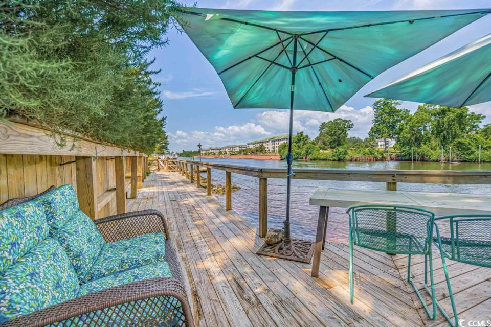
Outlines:
{"label": "upper floral back cushion at the sofa's far end, against the fence", "polygon": [[62,185],[38,198],[50,229],[63,227],[78,211],[78,199],[72,184]]}

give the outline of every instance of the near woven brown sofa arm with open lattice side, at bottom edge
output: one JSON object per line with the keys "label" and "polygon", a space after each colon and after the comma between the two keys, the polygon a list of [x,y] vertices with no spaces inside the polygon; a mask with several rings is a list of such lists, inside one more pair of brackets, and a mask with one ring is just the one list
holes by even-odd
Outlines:
{"label": "near woven brown sofa arm with open lattice side, at bottom edge", "polygon": [[[164,298],[165,305],[162,303],[156,305],[156,302],[162,302],[162,298]],[[171,318],[158,317],[155,319],[155,314],[162,314],[163,306],[167,312],[175,313],[176,309],[180,310],[178,306],[175,306],[175,299],[181,302],[184,316],[177,314]],[[104,308],[114,310],[104,310]],[[145,319],[145,316],[148,319]],[[158,320],[159,318],[160,320]],[[113,319],[117,319],[117,321]],[[66,323],[60,325],[79,325],[74,323],[77,320],[83,325],[107,325],[109,322],[113,322],[113,325],[166,325],[162,323],[162,320],[168,321],[169,319],[173,321],[171,325],[194,326],[186,291],[182,284],[174,278],[160,277],[77,297],[30,315],[10,320],[1,326],[40,327],[65,320],[72,321],[65,321]]]}

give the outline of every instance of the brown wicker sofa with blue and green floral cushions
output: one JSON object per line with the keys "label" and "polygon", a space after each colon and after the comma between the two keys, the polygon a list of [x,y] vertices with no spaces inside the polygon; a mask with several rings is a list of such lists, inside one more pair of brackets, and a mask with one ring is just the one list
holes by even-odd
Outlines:
{"label": "brown wicker sofa with blue and green floral cushions", "polygon": [[2,326],[192,326],[159,211],[90,220],[71,185],[0,205]]}

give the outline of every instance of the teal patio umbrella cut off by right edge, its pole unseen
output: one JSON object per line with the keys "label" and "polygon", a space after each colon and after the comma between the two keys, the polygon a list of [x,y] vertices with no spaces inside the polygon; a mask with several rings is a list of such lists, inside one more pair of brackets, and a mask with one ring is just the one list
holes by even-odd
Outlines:
{"label": "teal patio umbrella cut off by right edge, its pole unseen", "polygon": [[366,97],[463,107],[491,101],[491,34]]}

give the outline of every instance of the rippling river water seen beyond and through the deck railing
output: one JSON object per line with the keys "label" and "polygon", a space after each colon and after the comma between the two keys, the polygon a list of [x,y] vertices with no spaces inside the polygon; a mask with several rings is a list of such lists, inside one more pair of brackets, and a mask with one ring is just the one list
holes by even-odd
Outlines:
{"label": "rippling river water seen beyond and through the deck railing", "polygon": [[[199,161],[199,158],[195,158]],[[284,168],[285,161],[254,160],[254,159],[228,159],[206,158],[204,162],[230,164],[235,166],[249,166],[258,168]],[[441,162],[408,162],[408,161],[301,161],[295,160],[293,170],[300,169],[352,169],[352,170],[491,170],[491,163],[441,163]],[[212,169],[212,183],[224,184],[225,172]],[[254,177],[232,174],[232,183],[237,184],[240,190],[232,194],[232,206],[253,225],[258,225],[259,187],[258,179]],[[294,237],[304,239],[315,238],[317,216],[319,207],[310,206],[308,199],[319,187],[351,188],[358,190],[385,190],[386,184],[382,182],[360,181],[328,181],[328,180],[292,180],[291,221]],[[491,194],[491,185],[476,184],[422,184],[397,183],[397,190],[418,192],[450,192]],[[219,197],[225,202],[223,196]],[[269,227],[281,227],[284,220],[286,202],[286,180],[268,180],[268,221]],[[342,216],[345,209],[331,209],[334,215]]]}

